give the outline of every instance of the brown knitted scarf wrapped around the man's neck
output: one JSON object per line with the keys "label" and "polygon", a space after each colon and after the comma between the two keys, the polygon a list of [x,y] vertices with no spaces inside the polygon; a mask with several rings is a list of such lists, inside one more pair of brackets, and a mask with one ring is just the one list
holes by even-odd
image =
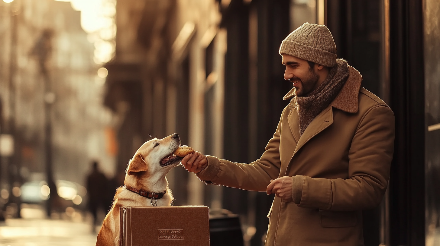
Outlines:
{"label": "brown knitted scarf wrapped around the man's neck", "polygon": [[336,65],[330,69],[326,80],[318,88],[304,97],[293,98],[297,105],[301,135],[312,120],[336,98],[347,81],[348,73],[347,61],[337,59]]}

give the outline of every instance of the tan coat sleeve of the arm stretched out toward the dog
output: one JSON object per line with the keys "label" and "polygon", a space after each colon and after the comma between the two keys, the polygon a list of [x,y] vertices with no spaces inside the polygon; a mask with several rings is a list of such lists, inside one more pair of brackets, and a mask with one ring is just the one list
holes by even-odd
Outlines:
{"label": "tan coat sleeve of the arm stretched out toward the dog", "polygon": [[[285,111],[286,109],[283,110],[282,115]],[[265,192],[271,179],[277,178],[280,172],[279,140],[282,118],[260,159],[246,164],[207,156],[208,166],[197,174],[198,178],[207,184]]]}

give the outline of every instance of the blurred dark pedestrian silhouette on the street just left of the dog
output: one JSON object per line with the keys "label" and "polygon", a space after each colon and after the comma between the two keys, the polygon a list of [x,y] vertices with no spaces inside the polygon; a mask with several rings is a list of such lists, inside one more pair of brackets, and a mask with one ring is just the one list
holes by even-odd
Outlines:
{"label": "blurred dark pedestrian silhouette on the street just left of the dog", "polygon": [[108,179],[99,170],[98,162],[92,162],[92,172],[87,176],[88,209],[93,215],[92,231],[98,224],[98,211],[103,209],[105,213],[110,209],[108,206]]}

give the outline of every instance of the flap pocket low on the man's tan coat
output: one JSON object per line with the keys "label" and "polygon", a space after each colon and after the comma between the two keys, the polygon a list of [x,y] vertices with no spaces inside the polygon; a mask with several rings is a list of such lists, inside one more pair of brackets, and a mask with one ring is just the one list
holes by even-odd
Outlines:
{"label": "flap pocket low on the man's tan coat", "polygon": [[319,210],[321,226],[327,227],[352,227],[357,224],[356,211],[330,211]]}

